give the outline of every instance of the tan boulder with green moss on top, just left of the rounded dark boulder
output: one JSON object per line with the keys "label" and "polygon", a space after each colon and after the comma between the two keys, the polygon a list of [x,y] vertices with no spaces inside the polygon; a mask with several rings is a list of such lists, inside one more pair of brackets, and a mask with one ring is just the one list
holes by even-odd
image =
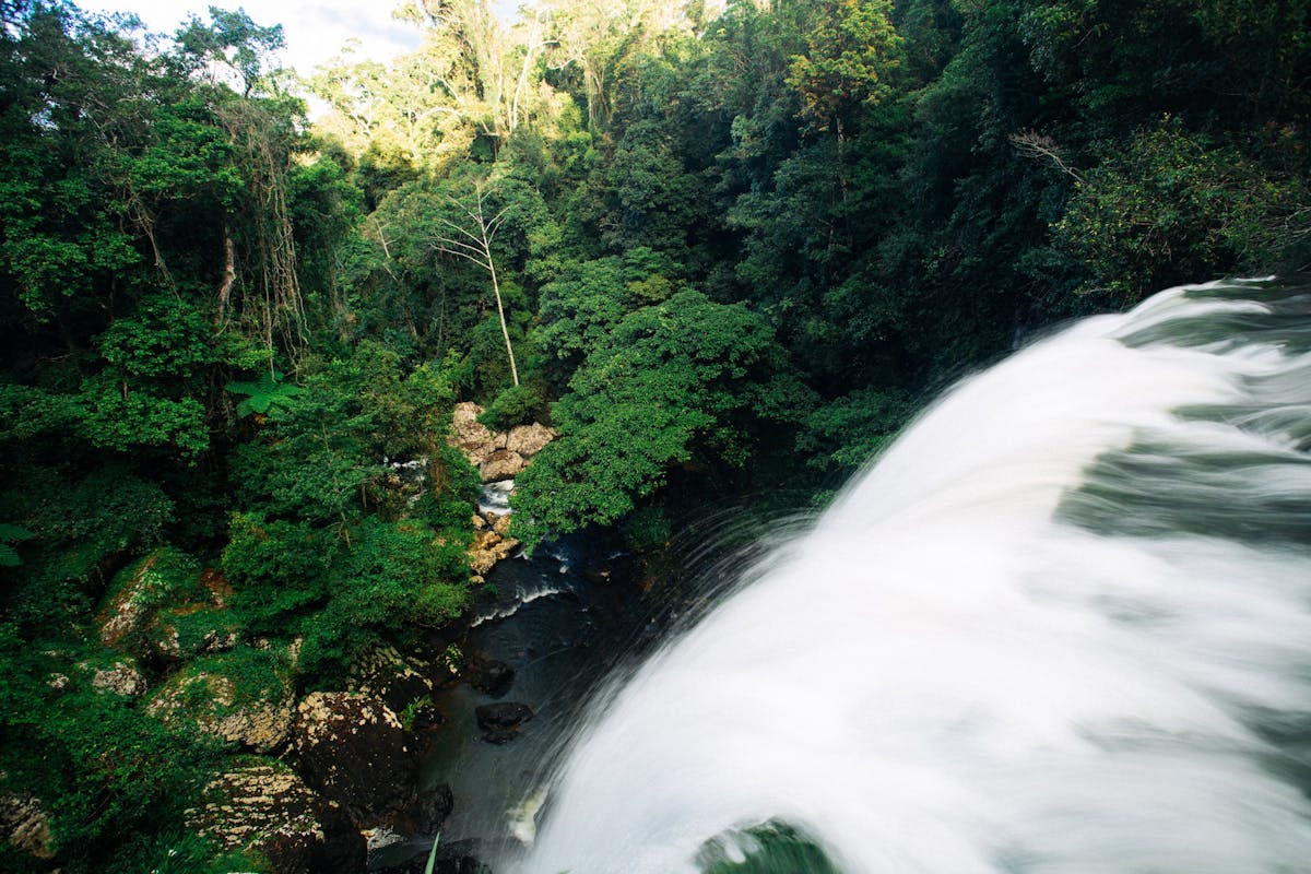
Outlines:
{"label": "tan boulder with green moss on top, just left of the rounded dark boulder", "polygon": [[151,697],[147,713],[174,727],[270,752],[287,743],[294,705],[287,649],[239,646],[177,671]]}

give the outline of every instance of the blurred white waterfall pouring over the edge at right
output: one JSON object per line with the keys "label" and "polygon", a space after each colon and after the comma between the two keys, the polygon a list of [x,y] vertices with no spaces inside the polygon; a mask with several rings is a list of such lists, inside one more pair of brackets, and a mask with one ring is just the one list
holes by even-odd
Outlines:
{"label": "blurred white waterfall pouring over the edge at right", "polygon": [[848,873],[1311,870],[1308,335],[1213,284],[966,380],[603,698],[498,870],[770,822]]}

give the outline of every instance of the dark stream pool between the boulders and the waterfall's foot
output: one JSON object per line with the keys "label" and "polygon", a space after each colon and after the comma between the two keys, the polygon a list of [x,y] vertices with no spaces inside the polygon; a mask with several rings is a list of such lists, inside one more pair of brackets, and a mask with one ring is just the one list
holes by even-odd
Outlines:
{"label": "dark stream pool between the boulders and the waterfall's foot", "polygon": [[[514,840],[519,810],[540,793],[591,694],[617,666],[652,649],[674,613],[667,594],[648,591],[641,563],[615,542],[570,539],[531,558],[507,558],[486,577],[484,599],[455,645],[465,659],[496,659],[514,668],[496,696],[460,683],[437,696],[446,723],[433,735],[420,789],[446,784],[455,807],[442,844]],[[503,744],[482,738],[475,708],[494,701],[527,704],[532,719]],[[372,867],[426,853],[431,836],[388,846]]]}

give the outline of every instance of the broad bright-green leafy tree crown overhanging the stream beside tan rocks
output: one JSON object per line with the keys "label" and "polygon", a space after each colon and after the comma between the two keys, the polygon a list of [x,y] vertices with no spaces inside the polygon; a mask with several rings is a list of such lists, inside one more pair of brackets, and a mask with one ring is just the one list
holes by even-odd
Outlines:
{"label": "broad bright-green leafy tree crown overhanging the stream beside tan rocks", "polygon": [[514,524],[530,544],[617,522],[675,465],[743,466],[754,425],[810,402],[764,320],[696,291],[627,316],[569,389],[552,411],[560,439],[518,480]]}

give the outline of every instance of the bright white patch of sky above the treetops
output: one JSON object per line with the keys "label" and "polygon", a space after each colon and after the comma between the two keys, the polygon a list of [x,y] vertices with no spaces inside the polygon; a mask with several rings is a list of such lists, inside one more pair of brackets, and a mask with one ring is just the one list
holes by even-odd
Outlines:
{"label": "bright white patch of sky above the treetops", "polygon": [[[397,0],[75,0],[88,12],[135,12],[149,30],[172,34],[191,13],[208,18],[211,5],[241,7],[257,25],[281,24],[287,47],[283,63],[309,75],[341,52],[347,39],[361,41],[357,58],[387,60],[418,47],[418,30],[392,20]],[[502,16],[518,5],[493,4]]]}

